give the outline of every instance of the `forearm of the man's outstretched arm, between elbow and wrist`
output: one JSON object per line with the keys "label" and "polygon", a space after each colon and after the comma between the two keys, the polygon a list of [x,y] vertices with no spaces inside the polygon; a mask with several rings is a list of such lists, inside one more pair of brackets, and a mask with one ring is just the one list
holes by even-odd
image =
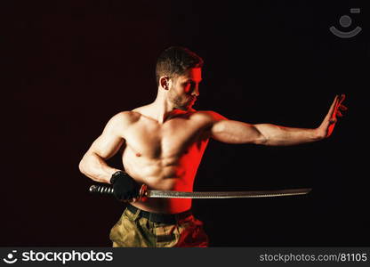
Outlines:
{"label": "forearm of the man's outstretched arm, between elbow and wrist", "polygon": [[290,146],[323,139],[317,129],[283,127],[279,125],[254,125],[265,137],[263,144],[269,146]]}

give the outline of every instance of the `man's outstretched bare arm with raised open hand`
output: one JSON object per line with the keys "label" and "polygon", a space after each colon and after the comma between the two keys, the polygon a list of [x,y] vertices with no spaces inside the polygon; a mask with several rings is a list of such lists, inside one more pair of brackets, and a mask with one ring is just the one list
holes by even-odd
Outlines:
{"label": "man's outstretched bare arm with raised open hand", "polygon": [[334,130],[337,117],[342,117],[339,109],[346,110],[342,105],[344,94],[335,99],[321,125],[315,129],[284,127],[279,125],[250,125],[239,121],[227,120],[221,115],[213,114],[211,134],[213,139],[227,143],[256,143],[270,146],[289,146],[304,142],[316,142],[329,137]]}

